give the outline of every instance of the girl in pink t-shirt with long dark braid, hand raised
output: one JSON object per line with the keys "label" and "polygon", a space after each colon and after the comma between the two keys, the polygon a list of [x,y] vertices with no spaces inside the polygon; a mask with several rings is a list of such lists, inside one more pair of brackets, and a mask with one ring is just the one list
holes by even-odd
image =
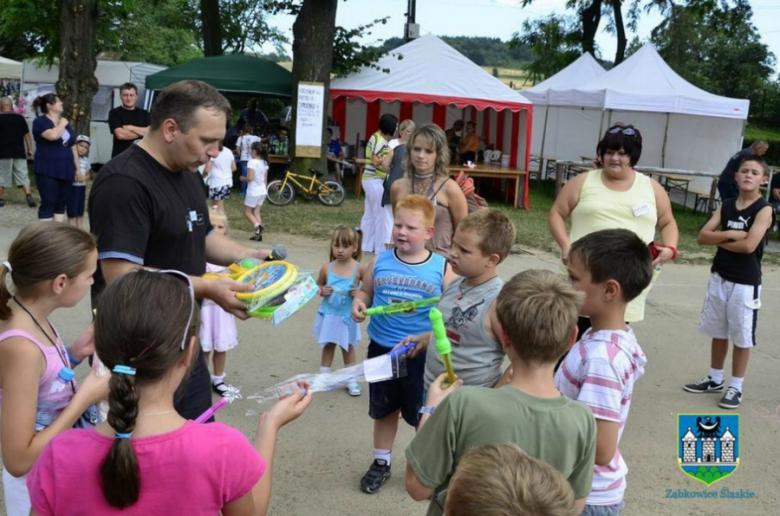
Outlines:
{"label": "girl in pink t-shirt with long dark braid, hand raised", "polygon": [[177,271],[141,269],[106,287],[95,349],[112,371],[108,421],[46,447],[28,479],[35,514],[266,513],[277,432],[311,395],[263,414],[255,446],[222,423],[183,419],[173,398],[194,363],[197,308]]}

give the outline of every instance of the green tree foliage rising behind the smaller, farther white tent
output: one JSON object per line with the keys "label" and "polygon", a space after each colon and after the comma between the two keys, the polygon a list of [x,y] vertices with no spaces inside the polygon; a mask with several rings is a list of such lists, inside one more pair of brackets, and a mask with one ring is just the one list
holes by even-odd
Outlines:
{"label": "green tree foliage rising behind the smaller, farther white tent", "polygon": [[534,60],[525,66],[532,83],[537,83],[566,68],[580,56],[581,36],[576,22],[552,14],[547,18],[525,20],[520,32],[512,35],[513,45],[525,45]]}

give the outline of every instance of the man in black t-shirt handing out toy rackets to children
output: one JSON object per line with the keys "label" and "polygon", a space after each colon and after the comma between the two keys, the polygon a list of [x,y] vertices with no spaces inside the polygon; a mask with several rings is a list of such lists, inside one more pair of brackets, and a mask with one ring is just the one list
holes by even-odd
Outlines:
{"label": "man in black t-shirt handing out toy rackets to children", "polygon": [[[197,170],[219,154],[229,109],[228,101],[204,82],[172,84],[152,107],[148,134],[101,169],[89,196],[90,229],[100,261],[93,305],[99,305],[105,284],[123,274],[140,267],[175,269],[191,277],[196,297],[248,318],[235,296],[248,286],[202,278],[207,260],[229,265],[269,254],[212,231],[209,221]],[[177,398],[179,414],[195,419],[211,406],[210,384],[200,356]]]}

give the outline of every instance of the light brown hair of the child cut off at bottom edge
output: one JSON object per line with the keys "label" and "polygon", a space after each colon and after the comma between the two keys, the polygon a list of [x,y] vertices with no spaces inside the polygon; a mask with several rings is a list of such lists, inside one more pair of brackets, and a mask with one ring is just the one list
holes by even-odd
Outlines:
{"label": "light brown hair of the child cut off at bottom edge", "polygon": [[445,516],[575,516],[563,475],[514,444],[469,450],[450,481]]}

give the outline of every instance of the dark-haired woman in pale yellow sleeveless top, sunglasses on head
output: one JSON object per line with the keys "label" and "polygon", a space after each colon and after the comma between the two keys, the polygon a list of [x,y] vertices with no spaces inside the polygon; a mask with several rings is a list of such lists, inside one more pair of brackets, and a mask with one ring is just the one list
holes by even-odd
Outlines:
{"label": "dark-haired woman in pale yellow sleeveless top, sunglasses on head", "polygon": [[[650,244],[657,228],[663,241],[653,260],[657,276],[661,266],[677,256],[677,222],[660,183],[633,168],[642,154],[642,135],[631,125],[617,124],[607,130],[596,152],[603,167],[566,183],[547,219],[561,248],[563,263],[568,263],[571,243],[594,231],[630,229]],[[566,219],[571,219],[571,234],[566,231]],[[629,303],[627,322],[644,319],[645,299],[651,287]]]}

